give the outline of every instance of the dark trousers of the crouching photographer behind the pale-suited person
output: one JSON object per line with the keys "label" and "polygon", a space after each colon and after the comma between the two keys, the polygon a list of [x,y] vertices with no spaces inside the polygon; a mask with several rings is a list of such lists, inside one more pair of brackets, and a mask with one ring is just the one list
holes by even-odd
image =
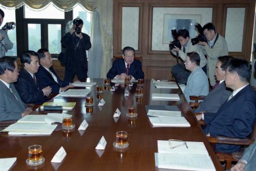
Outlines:
{"label": "dark trousers of the crouching photographer behind the pale-suited person", "polygon": [[[202,67],[202,69],[205,72],[205,74],[207,75],[206,65],[204,65],[204,67]],[[185,68],[184,63],[179,63],[172,67],[172,74],[177,79],[178,83],[180,83],[180,84],[187,83],[187,79],[188,79],[190,73],[191,72]]]}

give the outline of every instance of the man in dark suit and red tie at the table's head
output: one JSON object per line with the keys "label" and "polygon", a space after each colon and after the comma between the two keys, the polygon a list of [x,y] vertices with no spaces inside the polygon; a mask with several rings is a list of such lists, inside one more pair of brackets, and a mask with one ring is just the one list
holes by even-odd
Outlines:
{"label": "man in dark suit and red tie at the table's head", "polygon": [[144,72],[141,68],[141,62],[134,60],[135,50],[133,47],[123,48],[123,59],[115,60],[112,68],[106,75],[110,79],[124,80],[126,76],[132,76],[132,79],[143,79]]}

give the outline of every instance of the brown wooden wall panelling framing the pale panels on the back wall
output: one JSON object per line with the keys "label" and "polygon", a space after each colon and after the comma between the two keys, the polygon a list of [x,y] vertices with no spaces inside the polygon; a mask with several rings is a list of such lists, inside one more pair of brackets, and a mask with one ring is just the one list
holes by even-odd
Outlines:
{"label": "brown wooden wall panelling framing the pale panels on the back wall", "polygon": [[168,51],[151,51],[153,7],[210,7],[212,8],[212,22],[216,26],[216,31],[223,36],[225,35],[227,8],[245,7],[243,50],[241,53],[230,52],[230,55],[250,60],[255,0],[114,0],[113,5],[113,56],[121,55],[121,7],[140,7],[139,23],[142,23],[140,26],[142,31],[139,33],[139,40],[141,47],[139,51],[136,51],[136,56],[143,57],[142,68],[145,72],[145,78],[171,79],[170,70],[176,64],[176,58],[170,55]]}

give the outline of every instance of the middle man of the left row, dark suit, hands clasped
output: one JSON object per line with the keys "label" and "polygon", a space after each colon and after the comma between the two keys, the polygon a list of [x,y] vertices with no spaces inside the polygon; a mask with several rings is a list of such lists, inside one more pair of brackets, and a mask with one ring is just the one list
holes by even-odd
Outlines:
{"label": "middle man of the left row, dark suit, hands clasped", "polygon": [[39,68],[38,55],[34,51],[25,51],[20,56],[20,62],[23,69],[19,72],[19,79],[15,84],[16,89],[23,102],[26,104],[42,104],[45,102],[45,96],[50,95],[52,88],[50,86],[43,89],[39,88],[35,73]]}

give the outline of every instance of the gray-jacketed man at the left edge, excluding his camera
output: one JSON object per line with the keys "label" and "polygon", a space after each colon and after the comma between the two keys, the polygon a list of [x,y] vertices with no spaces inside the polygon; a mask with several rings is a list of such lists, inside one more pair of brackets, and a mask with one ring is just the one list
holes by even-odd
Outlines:
{"label": "gray-jacketed man at the left edge, excluding his camera", "polygon": [[[0,26],[3,23],[4,17],[5,17],[5,13],[3,10],[0,9]],[[13,43],[8,37],[7,29],[2,28],[0,30],[0,58],[5,56],[5,53],[7,52],[7,50],[11,50],[12,47],[13,47]]]}

